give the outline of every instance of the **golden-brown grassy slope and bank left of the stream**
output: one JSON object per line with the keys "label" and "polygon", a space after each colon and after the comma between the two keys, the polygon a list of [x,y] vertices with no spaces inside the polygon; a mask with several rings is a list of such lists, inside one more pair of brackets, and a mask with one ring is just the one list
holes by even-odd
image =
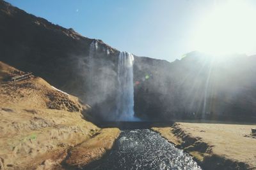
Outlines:
{"label": "golden-brown grassy slope and bank left of the stream", "polygon": [[[42,78],[6,81],[19,74],[0,62],[0,169],[69,169],[66,160],[84,166],[111,148],[118,129],[100,129],[86,121],[88,105]],[[77,146],[88,159],[70,157]]]}

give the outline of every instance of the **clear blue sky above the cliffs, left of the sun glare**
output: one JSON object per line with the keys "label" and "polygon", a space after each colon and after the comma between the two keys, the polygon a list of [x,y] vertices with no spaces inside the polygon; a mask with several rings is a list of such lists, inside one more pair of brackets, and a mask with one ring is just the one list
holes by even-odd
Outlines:
{"label": "clear blue sky above the cliffs, left of the sun glare", "polygon": [[[54,24],[121,51],[173,61],[195,49],[210,0],[7,0]],[[256,49],[256,48],[255,48]]]}

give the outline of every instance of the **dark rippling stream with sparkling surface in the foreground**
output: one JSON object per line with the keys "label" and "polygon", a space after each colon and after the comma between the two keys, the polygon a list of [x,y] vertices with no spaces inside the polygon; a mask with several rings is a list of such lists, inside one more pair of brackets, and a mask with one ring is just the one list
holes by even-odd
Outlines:
{"label": "dark rippling stream with sparkling surface in the foreground", "polygon": [[182,150],[149,129],[122,131],[112,150],[84,169],[201,169]]}

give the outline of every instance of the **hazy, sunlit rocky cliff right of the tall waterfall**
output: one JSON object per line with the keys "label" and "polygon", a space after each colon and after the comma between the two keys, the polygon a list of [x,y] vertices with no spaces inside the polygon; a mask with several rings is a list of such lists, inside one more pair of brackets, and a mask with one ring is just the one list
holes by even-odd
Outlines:
{"label": "hazy, sunlit rocky cliff right of the tall waterfall", "polygon": [[255,56],[216,58],[191,52],[172,63],[137,60],[141,61],[135,64],[134,76],[141,81],[134,90],[139,116],[255,121]]}

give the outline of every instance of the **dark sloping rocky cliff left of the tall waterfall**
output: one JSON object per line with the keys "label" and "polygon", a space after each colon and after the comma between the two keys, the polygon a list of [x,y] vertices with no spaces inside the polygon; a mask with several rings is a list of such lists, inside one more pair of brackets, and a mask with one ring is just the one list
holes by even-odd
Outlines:
{"label": "dark sloping rocky cliff left of the tall waterfall", "polygon": [[[54,87],[79,96],[95,106],[99,114],[101,110],[105,115],[113,110],[119,54],[114,48],[101,40],[85,38],[73,29],[29,15],[4,1],[0,1],[0,37],[0,60],[32,71]],[[91,68],[90,45],[93,42],[97,42],[97,55],[93,55],[94,67]],[[93,83],[89,78],[92,72],[97,78]],[[105,89],[108,89],[107,94],[102,92]],[[108,107],[104,107],[106,103]]]}

